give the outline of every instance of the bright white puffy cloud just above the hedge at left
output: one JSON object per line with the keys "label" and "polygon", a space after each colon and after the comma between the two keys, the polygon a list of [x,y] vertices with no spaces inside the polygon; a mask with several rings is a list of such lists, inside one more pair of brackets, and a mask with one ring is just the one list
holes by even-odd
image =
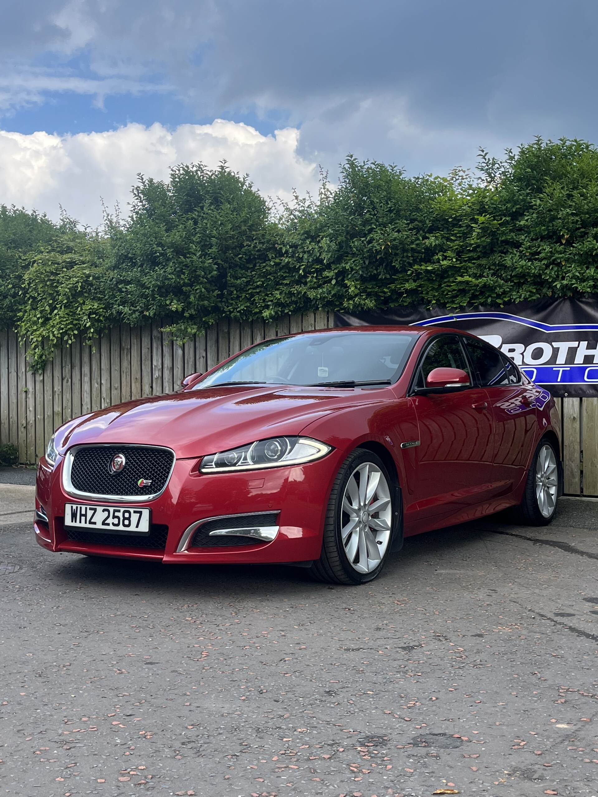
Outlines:
{"label": "bright white puffy cloud just above the hedge at left", "polygon": [[297,154],[295,128],[262,135],[246,124],[214,120],[183,124],[128,124],[110,132],[31,135],[0,131],[0,202],[36,208],[57,219],[59,205],[84,224],[102,220],[100,197],[128,210],[136,175],[167,179],[169,167],[202,161],[216,167],[226,159],[234,171],[248,172],[255,186],[273,198],[291,191],[317,191],[318,169]]}

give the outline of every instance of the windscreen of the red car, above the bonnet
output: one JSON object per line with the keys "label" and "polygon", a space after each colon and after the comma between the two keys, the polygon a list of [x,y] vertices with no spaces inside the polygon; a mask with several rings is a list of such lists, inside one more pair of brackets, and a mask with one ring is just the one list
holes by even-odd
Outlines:
{"label": "windscreen of the red car, above the bonnet", "polygon": [[219,367],[193,389],[226,383],[395,382],[416,339],[416,334],[408,332],[326,332],[266,340]]}

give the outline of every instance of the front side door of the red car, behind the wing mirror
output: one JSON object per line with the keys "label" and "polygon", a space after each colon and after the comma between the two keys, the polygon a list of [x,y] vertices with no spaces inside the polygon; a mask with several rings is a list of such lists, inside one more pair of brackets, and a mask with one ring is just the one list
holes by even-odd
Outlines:
{"label": "front side door of the red car, behind the wing mirror", "polygon": [[[418,394],[430,371],[439,367],[466,371],[471,387]],[[419,423],[416,519],[448,518],[491,497],[494,419],[486,391],[474,384],[460,336],[431,340],[416,367],[411,401]]]}

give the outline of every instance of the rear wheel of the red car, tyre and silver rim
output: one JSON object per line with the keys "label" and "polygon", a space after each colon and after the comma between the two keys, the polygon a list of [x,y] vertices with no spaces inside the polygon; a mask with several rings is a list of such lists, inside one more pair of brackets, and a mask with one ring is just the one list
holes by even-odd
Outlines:
{"label": "rear wheel of the red car, tyre and silver rim", "polygon": [[557,511],[558,457],[553,443],[542,438],[533,454],[518,514],[526,525],[546,526]]}

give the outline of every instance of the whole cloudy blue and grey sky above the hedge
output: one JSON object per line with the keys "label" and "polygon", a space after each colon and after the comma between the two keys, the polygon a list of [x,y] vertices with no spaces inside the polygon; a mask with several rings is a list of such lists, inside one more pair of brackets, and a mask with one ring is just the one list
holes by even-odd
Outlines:
{"label": "whole cloudy blue and grey sky above the hedge", "polygon": [[446,174],[596,141],[596,0],[2,0],[0,202],[81,222],[226,158],[288,198],[348,152]]}

